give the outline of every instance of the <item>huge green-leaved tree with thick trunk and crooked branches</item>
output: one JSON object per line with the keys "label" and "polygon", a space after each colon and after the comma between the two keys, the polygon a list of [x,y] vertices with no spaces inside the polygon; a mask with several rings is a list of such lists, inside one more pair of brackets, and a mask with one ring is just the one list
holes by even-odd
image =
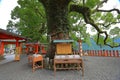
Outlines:
{"label": "huge green-leaved tree with thick trunk and crooked branches", "polygon": [[[89,43],[91,34],[87,28],[96,31],[94,39],[98,45],[112,45],[110,29],[120,23],[120,11],[117,8],[103,9],[109,0],[18,0],[18,6],[12,11],[12,21],[22,35],[36,36],[47,34],[54,39],[77,39]],[[87,25],[90,26],[87,26]],[[13,27],[13,26],[12,26]],[[12,28],[8,25],[8,29]],[[119,27],[118,27],[119,29]],[[38,35],[35,35],[35,34]],[[34,34],[34,35],[33,35]],[[29,37],[28,36],[28,37]],[[119,36],[119,32],[117,34]],[[78,38],[79,39],[79,38]],[[52,43],[52,42],[51,42]],[[50,46],[53,46],[52,44]],[[50,47],[54,53],[54,47]],[[52,55],[52,54],[50,54]],[[51,57],[53,58],[54,55]]]}

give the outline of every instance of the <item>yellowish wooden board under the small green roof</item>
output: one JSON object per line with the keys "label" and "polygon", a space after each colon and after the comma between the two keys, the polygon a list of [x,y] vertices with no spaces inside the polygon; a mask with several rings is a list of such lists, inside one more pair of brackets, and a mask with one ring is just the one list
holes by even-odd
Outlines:
{"label": "yellowish wooden board under the small green roof", "polygon": [[56,44],[56,54],[58,55],[72,54],[72,45],[70,43]]}

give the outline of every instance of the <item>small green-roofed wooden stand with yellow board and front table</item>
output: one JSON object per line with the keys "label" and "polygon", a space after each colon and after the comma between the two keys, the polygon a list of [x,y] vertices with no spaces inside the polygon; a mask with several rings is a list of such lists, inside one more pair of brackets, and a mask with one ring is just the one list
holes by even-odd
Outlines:
{"label": "small green-roofed wooden stand with yellow board and front table", "polygon": [[[56,45],[56,53],[54,57],[54,73],[57,69],[81,69],[83,71],[83,61],[80,55],[73,54],[73,40],[54,40]],[[76,66],[73,66],[76,64]],[[59,65],[59,67],[57,66]],[[69,66],[68,66],[69,65]]]}

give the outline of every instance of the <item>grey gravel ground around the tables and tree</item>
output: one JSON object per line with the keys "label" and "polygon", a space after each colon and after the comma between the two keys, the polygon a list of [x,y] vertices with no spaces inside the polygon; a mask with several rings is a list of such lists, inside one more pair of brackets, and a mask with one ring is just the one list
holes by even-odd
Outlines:
{"label": "grey gravel ground around the tables and tree", "polygon": [[120,80],[120,57],[84,57],[84,77],[81,71],[37,69],[32,72],[27,56],[20,61],[0,64],[0,80]]}

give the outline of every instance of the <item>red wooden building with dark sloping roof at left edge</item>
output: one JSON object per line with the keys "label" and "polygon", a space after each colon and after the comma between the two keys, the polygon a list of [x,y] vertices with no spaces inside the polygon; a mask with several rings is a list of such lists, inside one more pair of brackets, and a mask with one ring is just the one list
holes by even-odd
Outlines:
{"label": "red wooden building with dark sloping roof at left edge", "polygon": [[26,41],[26,38],[9,32],[7,30],[0,29],[0,55],[4,54],[4,45],[6,44],[15,44],[16,45],[16,54],[15,60],[20,60],[21,53],[21,43]]}

